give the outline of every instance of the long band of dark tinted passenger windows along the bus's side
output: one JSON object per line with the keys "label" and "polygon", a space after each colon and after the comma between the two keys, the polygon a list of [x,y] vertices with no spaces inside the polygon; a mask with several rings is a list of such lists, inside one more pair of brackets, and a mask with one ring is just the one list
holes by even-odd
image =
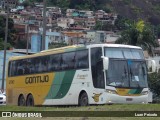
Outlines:
{"label": "long band of dark tinted passenger windows along the bus's side", "polygon": [[9,76],[88,68],[88,50],[11,61]]}

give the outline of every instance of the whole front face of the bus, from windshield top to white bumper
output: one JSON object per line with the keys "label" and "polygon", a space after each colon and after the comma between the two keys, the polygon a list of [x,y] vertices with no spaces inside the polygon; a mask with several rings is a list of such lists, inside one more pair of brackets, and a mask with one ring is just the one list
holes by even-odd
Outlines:
{"label": "whole front face of the bus, from windshield top to white bumper", "polygon": [[104,46],[107,103],[148,103],[147,67],[139,47]]}

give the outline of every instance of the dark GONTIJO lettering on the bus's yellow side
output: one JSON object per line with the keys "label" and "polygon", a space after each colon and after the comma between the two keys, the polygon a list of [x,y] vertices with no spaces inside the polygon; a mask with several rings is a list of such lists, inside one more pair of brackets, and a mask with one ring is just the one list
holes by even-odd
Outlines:
{"label": "dark GONTIJO lettering on the bus's yellow side", "polygon": [[44,83],[49,81],[49,76],[33,76],[33,77],[26,77],[25,83],[26,84],[33,84],[33,83]]}

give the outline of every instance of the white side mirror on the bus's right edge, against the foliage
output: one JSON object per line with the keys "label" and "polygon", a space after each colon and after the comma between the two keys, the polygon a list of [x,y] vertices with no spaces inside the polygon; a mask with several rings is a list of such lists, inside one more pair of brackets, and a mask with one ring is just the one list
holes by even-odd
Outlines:
{"label": "white side mirror on the bus's right edge, against the foliage", "polygon": [[147,61],[147,67],[148,67],[148,73],[153,73],[157,71],[156,62],[155,60],[146,60]]}

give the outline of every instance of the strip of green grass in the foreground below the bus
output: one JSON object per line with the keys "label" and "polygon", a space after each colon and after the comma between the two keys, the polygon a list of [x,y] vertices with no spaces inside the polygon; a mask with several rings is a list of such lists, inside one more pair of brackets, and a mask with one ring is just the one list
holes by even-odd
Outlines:
{"label": "strip of green grass in the foreground below the bus", "polygon": [[[93,111],[104,111],[104,112],[111,112],[113,115],[114,112],[112,111],[117,111],[116,115],[118,112],[123,111],[124,115],[127,115],[132,112],[144,112],[144,111],[160,111],[160,104],[113,104],[113,105],[99,105],[99,106],[87,106],[87,107],[77,107],[77,106],[53,106],[53,107],[18,107],[18,106],[1,106],[0,111],[20,111],[20,112],[40,112],[40,111],[60,111],[62,117],[54,117],[54,119],[61,119],[61,120],[66,120],[66,119],[78,119],[78,120],[105,120],[105,119],[110,119],[110,120],[135,120],[134,114],[132,117],[63,117],[63,114],[65,112],[71,111],[71,113],[75,113],[76,111],[80,112],[90,112],[93,113]],[[49,112],[48,112],[49,113]],[[156,112],[157,113],[157,112]],[[78,114],[78,113],[77,113]],[[92,114],[93,115],[93,114]],[[10,118],[11,120],[17,120],[17,118]],[[22,118],[19,118],[22,119]],[[24,119],[24,118],[23,118]],[[38,120],[40,118],[30,118],[31,120]],[[53,118],[41,118],[45,120],[50,120]],[[159,117],[136,117],[136,120],[158,120]],[[8,120],[8,119],[7,119]]]}

